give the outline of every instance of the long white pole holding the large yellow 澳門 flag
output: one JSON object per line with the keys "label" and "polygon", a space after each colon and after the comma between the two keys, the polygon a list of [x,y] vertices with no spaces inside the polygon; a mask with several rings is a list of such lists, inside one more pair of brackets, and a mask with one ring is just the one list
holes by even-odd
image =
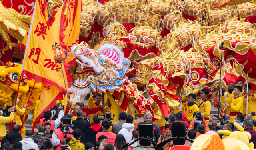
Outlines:
{"label": "long white pole holding the large yellow \u6fb3\u9580 flag", "polygon": [[[30,39],[30,35],[31,35],[31,30],[32,30],[33,22],[34,22],[34,17],[35,17],[35,12],[36,12],[36,2],[37,2],[37,0],[35,1],[33,15],[32,15],[32,19],[31,19],[31,22],[30,22],[30,28],[29,28],[29,32],[28,32],[28,39],[27,39],[27,44],[26,44],[24,56],[23,56],[22,68],[21,68],[21,72],[20,72],[20,80],[21,80],[21,76],[22,76],[22,73],[23,73],[23,70],[24,70],[25,58],[26,58],[26,54],[27,54],[27,51],[28,51],[28,43],[29,43],[29,39]],[[20,88],[20,81],[19,81],[18,90],[17,90],[17,94],[16,94],[15,105],[17,103],[19,88]]]}

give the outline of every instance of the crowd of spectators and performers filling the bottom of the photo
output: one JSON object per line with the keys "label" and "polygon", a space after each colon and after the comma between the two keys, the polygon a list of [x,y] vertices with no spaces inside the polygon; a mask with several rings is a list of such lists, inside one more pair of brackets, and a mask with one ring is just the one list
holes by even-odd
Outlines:
{"label": "crowd of spectators and performers filling the bottom of the photo", "polygon": [[[134,74],[129,75],[133,83],[134,78]],[[256,128],[254,127],[256,126],[254,121],[256,120],[256,107],[254,107],[256,97],[251,93],[250,84],[244,85],[242,80],[238,80],[237,86],[229,84],[227,92],[222,89],[222,110],[220,112],[223,115],[222,118],[217,115],[210,118],[212,104],[208,100],[208,95],[207,89],[200,90],[200,98],[191,92],[185,98],[186,102],[182,102],[178,108],[172,110],[173,113],[163,118],[166,119],[164,127],[158,126],[153,121],[151,112],[143,114],[144,123],[152,124],[154,127],[154,142],[159,144],[172,137],[173,122],[184,122],[188,130],[187,138],[190,139],[186,143],[188,145],[192,144],[191,140],[195,140],[200,134],[206,134],[208,131],[236,131],[238,129],[233,124],[236,122],[252,135],[250,142],[256,145]],[[247,96],[248,107],[246,106]],[[88,108],[83,103],[72,104],[67,101],[66,106],[58,103],[54,109],[44,112],[44,118],[37,125],[38,132],[34,134],[29,130],[23,139],[20,134],[22,128],[20,124],[11,124],[12,130],[8,130],[10,126],[8,123],[14,119],[17,107],[13,106],[5,113],[1,110],[0,150],[8,148],[12,150],[132,150],[139,145],[135,113],[127,114],[121,111],[115,114],[118,104],[115,101],[116,98],[112,97],[107,99],[107,106],[102,104],[102,95],[99,92],[90,96]],[[106,115],[100,118],[103,111]],[[248,112],[247,118],[245,112]],[[107,114],[110,115],[107,116]],[[113,114],[118,117],[112,117]],[[211,125],[209,125],[210,119]],[[219,136],[222,137],[222,135]],[[122,148],[125,144],[129,146]],[[166,150],[172,146],[173,143],[169,142],[163,146],[163,149]]]}

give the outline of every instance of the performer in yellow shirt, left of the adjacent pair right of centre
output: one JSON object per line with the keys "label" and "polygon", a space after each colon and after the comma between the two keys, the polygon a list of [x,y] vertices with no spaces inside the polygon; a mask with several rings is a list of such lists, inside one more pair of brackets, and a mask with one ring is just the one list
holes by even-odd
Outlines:
{"label": "performer in yellow shirt, left of the adjacent pair right of centre", "polygon": [[196,95],[195,94],[189,94],[187,102],[182,104],[182,108],[184,108],[184,113],[187,116],[188,124],[194,119],[193,114],[194,112],[198,112],[198,106],[196,105]]}

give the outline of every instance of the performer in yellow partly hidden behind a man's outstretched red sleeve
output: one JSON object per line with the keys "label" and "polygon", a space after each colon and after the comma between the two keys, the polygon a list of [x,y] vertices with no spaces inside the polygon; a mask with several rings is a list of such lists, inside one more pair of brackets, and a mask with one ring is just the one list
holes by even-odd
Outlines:
{"label": "performer in yellow partly hidden behind a man's outstretched red sleeve", "polygon": [[[95,102],[94,102],[95,100]],[[102,95],[99,91],[96,91],[93,96],[91,96],[88,100],[88,108],[95,108],[98,107],[101,104],[102,101]],[[93,118],[94,115],[97,114],[103,114],[101,111],[96,112],[95,114],[90,114],[90,118]],[[105,114],[106,115],[106,114]],[[91,119],[91,123],[94,124],[93,120]]]}

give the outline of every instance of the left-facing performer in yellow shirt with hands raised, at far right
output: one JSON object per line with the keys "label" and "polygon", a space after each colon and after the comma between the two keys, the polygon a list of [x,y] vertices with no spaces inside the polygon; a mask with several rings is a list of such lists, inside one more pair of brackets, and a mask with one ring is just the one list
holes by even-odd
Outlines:
{"label": "left-facing performer in yellow shirt with hands raised, at far right", "polygon": [[[240,114],[243,112],[243,99],[239,96],[242,92],[241,86],[236,86],[233,93],[234,96],[230,96],[226,98],[227,103],[225,104],[230,108],[230,122],[234,122],[236,114]],[[222,89],[222,93],[225,93],[225,89]],[[224,95],[222,94],[221,99],[223,101]],[[224,100],[225,101],[225,100]]]}

